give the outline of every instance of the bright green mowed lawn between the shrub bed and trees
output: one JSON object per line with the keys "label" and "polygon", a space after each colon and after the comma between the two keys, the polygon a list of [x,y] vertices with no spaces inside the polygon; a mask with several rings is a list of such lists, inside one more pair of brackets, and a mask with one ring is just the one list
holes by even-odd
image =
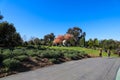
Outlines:
{"label": "bright green mowed lawn between the shrub bed and trees", "polygon": [[[82,48],[82,47],[57,47],[57,46],[52,46],[50,48],[84,51],[85,53],[89,54],[92,57],[99,57],[99,49],[94,50],[94,49],[88,49],[88,48]],[[108,55],[106,52],[103,51],[102,56],[107,57]],[[111,57],[118,57],[118,55],[111,53]]]}

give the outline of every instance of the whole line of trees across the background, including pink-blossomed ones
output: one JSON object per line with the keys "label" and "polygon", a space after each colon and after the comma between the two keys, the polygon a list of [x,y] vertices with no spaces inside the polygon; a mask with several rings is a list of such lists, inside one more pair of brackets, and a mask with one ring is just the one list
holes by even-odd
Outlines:
{"label": "whole line of trees across the background, including pink-blossomed ones", "polygon": [[[0,15],[0,47],[16,47],[29,45],[45,45],[45,46],[80,46],[86,48],[102,48],[116,50],[120,48],[120,41],[113,39],[98,40],[89,39],[86,41],[86,33],[79,27],[69,28],[65,34],[55,36],[54,33],[44,35],[43,39],[31,38],[29,41],[24,41],[21,35],[16,31],[13,24],[2,21],[3,16]],[[65,40],[65,41],[64,41]],[[65,42],[63,45],[63,41]],[[56,44],[53,44],[56,43]]]}

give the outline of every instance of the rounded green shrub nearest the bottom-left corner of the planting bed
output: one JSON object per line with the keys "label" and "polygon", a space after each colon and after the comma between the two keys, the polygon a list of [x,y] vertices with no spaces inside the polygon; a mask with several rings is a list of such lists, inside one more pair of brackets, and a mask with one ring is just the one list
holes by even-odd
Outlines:
{"label": "rounded green shrub nearest the bottom-left corner of the planting bed", "polygon": [[16,60],[16,59],[10,59],[9,58],[9,59],[5,59],[3,61],[3,65],[10,70],[15,70],[15,69],[19,68],[20,61]]}

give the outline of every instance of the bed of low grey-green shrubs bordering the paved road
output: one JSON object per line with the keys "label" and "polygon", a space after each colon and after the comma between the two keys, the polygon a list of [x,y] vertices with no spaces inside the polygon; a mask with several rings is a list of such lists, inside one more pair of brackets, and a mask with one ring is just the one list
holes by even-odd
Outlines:
{"label": "bed of low grey-green shrubs bordering the paved road", "polygon": [[29,47],[28,49],[17,48],[14,50],[0,50],[0,66],[3,69],[13,71],[17,68],[19,69],[22,62],[29,63],[29,58],[37,58],[38,60],[48,59],[48,62],[58,64],[66,61],[67,59],[78,60],[88,57],[88,55],[83,51],[31,48],[32,47]]}

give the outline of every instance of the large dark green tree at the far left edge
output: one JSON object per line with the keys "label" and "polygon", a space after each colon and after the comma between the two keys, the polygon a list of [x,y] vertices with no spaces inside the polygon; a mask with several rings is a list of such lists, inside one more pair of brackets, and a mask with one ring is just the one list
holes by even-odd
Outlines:
{"label": "large dark green tree at the far left edge", "polygon": [[0,23],[0,46],[1,47],[14,47],[22,45],[22,38],[13,24],[8,22]]}

